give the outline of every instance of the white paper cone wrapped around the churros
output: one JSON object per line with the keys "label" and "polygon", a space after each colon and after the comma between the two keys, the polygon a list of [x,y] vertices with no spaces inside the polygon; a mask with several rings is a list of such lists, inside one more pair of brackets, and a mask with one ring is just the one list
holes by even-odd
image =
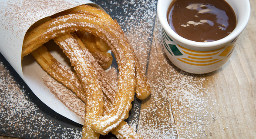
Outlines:
{"label": "white paper cone wrapped around the churros", "polygon": [[36,61],[29,60],[26,56],[21,60],[24,36],[31,25],[82,4],[101,8],[90,0],[1,0],[0,52],[42,102],[62,116],[83,125],[84,121],[56,99],[44,85],[42,77],[46,72]]}

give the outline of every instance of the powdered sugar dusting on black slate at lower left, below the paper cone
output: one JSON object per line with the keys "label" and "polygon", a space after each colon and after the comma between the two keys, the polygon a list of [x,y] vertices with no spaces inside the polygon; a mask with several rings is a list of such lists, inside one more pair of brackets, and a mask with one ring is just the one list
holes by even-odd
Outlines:
{"label": "powdered sugar dusting on black slate at lower left, below the paper cone", "polygon": [[2,62],[0,63],[0,113],[0,132],[3,136],[81,138],[81,130],[62,127],[59,122],[49,119],[49,116],[42,113],[30,100],[24,86],[17,84],[16,79],[11,76]]}

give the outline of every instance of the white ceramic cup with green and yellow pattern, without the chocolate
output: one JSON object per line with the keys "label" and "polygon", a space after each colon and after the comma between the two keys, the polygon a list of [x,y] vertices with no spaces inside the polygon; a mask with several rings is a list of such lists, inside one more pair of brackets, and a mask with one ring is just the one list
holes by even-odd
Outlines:
{"label": "white ceramic cup with green and yellow pattern, without the chocolate", "polygon": [[158,0],[157,14],[162,25],[163,47],[168,58],[189,73],[209,73],[229,60],[238,36],[245,29],[250,16],[249,0],[226,0],[236,14],[236,28],[228,36],[213,42],[195,42],[175,33],[168,24],[167,12],[173,0]]}

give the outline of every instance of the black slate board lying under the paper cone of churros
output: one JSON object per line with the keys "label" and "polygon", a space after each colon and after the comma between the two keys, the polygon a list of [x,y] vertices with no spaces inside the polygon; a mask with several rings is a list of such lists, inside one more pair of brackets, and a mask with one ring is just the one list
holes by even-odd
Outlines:
{"label": "black slate board lying under the paper cone of churros", "polygon": [[[144,0],[132,1],[130,8],[123,9],[125,0],[92,0],[103,7],[113,19],[121,22],[120,26],[125,29],[129,26],[125,19],[129,13],[136,12],[140,8],[141,16],[135,20],[141,20],[143,13]],[[129,2],[128,2],[129,3]],[[156,0],[152,3],[156,5]],[[153,9],[156,12],[156,9]],[[121,15],[121,16],[120,16]],[[155,15],[153,15],[155,18]],[[153,33],[153,26],[150,35]],[[125,30],[124,30],[125,32]],[[149,39],[149,42],[151,40]],[[150,45],[150,44],[149,44]],[[113,67],[117,63],[113,60]],[[138,122],[138,113],[141,100],[135,97],[132,102],[132,109],[129,118],[125,121],[129,124]],[[82,125],[65,118],[54,112],[51,108],[34,95],[26,83],[20,78],[16,71],[10,66],[8,61],[0,53],[0,136],[10,136],[22,139],[80,139]],[[138,123],[137,123],[138,124]],[[100,139],[116,139],[115,135],[109,133],[101,136]]]}

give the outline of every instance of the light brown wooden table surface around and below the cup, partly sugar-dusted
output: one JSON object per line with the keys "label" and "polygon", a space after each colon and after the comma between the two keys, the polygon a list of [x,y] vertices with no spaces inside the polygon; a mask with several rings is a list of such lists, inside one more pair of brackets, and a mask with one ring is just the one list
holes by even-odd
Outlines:
{"label": "light brown wooden table surface around and below the cup, partly sugar-dusted", "polygon": [[250,3],[249,23],[229,61],[201,75],[168,60],[156,18],[147,70],[153,93],[142,101],[138,125],[145,138],[156,131],[162,139],[256,139],[256,1]]}

